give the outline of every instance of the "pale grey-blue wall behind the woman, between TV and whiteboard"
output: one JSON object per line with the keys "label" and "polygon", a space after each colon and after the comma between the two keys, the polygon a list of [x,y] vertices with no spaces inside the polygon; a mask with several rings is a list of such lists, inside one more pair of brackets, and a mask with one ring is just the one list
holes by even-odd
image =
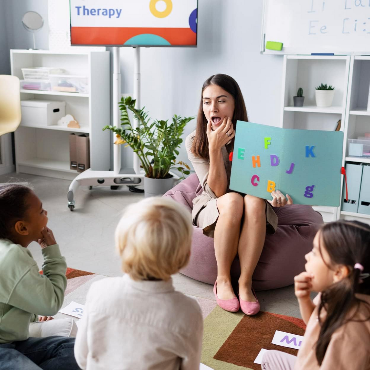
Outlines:
{"label": "pale grey-blue wall behind the woman, between TV and whiteboard", "polygon": [[[195,116],[203,82],[216,73],[231,75],[240,85],[249,120],[277,125],[283,57],[261,55],[263,1],[199,0],[197,48],[141,49],[141,104],[149,116]],[[121,48],[122,92],[132,93],[133,50]],[[195,128],[186,127],[184,138]],[[123,148],[126,165],[132,163]],[[179,160],[188,162],[185,148]]]}

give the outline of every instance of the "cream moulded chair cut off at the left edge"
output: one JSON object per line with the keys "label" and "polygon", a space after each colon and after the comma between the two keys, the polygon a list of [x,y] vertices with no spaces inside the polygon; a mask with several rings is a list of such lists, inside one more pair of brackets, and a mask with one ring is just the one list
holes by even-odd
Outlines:
{"label": "cream moulded chair cut off at the left edge", "polygon": [[0,74],[0,136],[14,132],[21,123],[19,78]]}

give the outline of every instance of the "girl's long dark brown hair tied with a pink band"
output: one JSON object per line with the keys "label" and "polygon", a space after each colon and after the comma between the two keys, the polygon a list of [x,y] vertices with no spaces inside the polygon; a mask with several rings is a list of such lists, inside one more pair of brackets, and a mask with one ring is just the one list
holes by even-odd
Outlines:
{"label": "girl's long dark brown hair tied with a pink band", "polygon": [[[322,256],[322,248],[325,248],[330,257],[330,262],[324,263],[333,269],[334,265],[344,265],[349,269],[349,275],[337,283],[334,283],[321,294],[319,306],[319,323],[321,326],[319,339],[316,342],[316,358],[319,365],[322,364],[332,334],[342,325],[353,320],[359,310],[360,304],[364,302],[355,294],[370,294],[370,277],[361,282],[361,271],[355,269],[354,265],[360,263],[364,273],[370,272],[370,226],[358,221],[337,221],[324,225],[320,231],[320,237],[324,247],[319,250]],[[370,319],[369,317],[364,320]],[[354,313],[349,317],[349,312]],[[320,312],[324,309],[326,318],[320,319]]]}

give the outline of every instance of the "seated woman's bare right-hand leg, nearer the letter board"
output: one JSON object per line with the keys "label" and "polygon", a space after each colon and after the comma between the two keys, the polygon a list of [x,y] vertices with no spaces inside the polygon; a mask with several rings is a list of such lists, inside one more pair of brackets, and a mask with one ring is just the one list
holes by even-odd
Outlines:
{"label": "seated woman's bare right-hand leg, nearer the letter board", "polygon": [[252,275],[261,256],[266,237],[266,202],[252,195],[244,197],[244,221],[240,232],[239,295],[242,300],[256,302],[252,293]]}

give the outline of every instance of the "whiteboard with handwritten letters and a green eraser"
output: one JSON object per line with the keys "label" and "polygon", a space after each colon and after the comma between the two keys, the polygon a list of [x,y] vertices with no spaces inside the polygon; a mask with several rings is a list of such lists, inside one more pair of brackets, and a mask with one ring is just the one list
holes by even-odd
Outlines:
{"label": "whiteboard with handwritten letters and a green eraser", "polygon": [[[282,51],[265,49],[267,41]],[[261,51],[370,54],[370,0],[265,0]]]}

